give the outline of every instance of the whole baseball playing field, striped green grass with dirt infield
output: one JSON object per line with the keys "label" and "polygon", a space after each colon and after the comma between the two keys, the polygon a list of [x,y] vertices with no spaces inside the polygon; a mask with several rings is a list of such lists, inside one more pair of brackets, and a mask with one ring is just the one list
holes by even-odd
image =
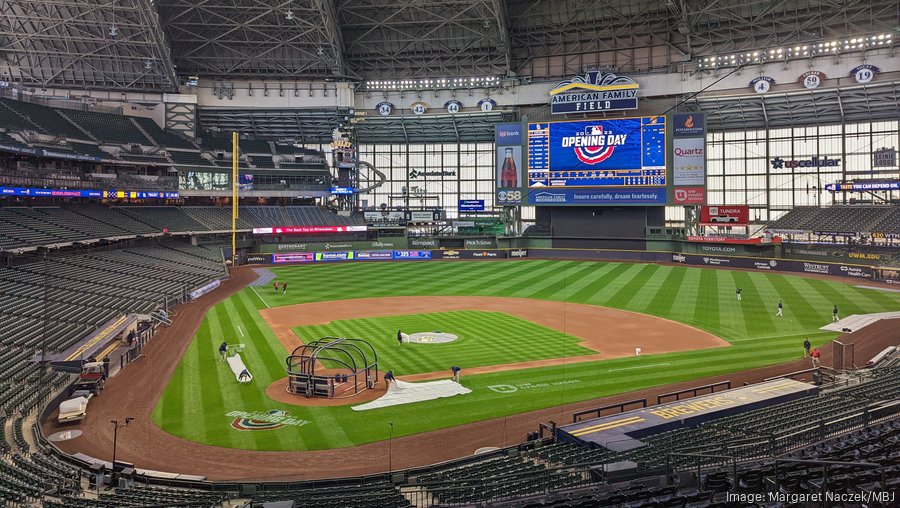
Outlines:
{"label": "whole baseball playing field, striped green grass with dirt infield", "polygon": [[[900,293],[860,288],[853,285],[856,281],[656,264],[357,262],[279,267],[273,272],[277,280],[288,282],[287,294],[274,294],[271,282],[248,287],[207,314],[153,411],[160,428],[230,448],[349,447],[793,360],[802,356],[804,337],[818,346],[835,336],[819,330],[831,321],[833,305],[842,316],[900,309]],[[743,289],[741,302],[737,287]],[[437,296],[504,299],[513,307],[421,312],[397,303],[414,299],[393,298]],[[366,299],[369,314],[354,317],[359,299]],[[563,316],[552,317],[562,324],[548,324],[546,313],[529,318],[518,312],[512,299],[552,303],[555,306],[546,308],[559,309]],[[775,315],[779,300],[784,302],[783,317]],[[304,305],[315,302],[330,303]],[[608,353],[640,346],[641,331],[608,326],[587,333],[576,322],[583,313],[566,315],[570,304],[580,312],[592,305],[598,306],[597,312],[612,308],[662,318],[653,320],[662,330],[656,333],[671,328],[673,341],[677,326],[708,332],[728,344],[615,357]],[[329,308],[342,317],[315,319],[312,309]],[[294,315],[296,322],[290,319]],[[627,324],[629,314],[617,316],[620,324]],[[401,347],[398,329],[440,330],[458,339]],[[291,345],[327,335],[368,340],[376,347],[380,370],[392,369],[401,380],[446,378],[449,367],[459,365],[462,384],[472,392],[370,411],[302,405],[302,397],[300,405],[270,398],[267,388],[285,377]],[[237,383],[218,359],[223,340],[243,344],[240,354],[253,374],[251,383]],[[259,423],[265,420],[259,415],[271,412],[278,412],[279,423],[248,423]]]}

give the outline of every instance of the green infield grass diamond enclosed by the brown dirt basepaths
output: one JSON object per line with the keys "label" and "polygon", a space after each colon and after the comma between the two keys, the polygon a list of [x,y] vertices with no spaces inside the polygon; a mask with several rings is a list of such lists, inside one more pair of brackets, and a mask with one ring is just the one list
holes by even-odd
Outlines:
{"label": "green infield grass diamond enclosed by the brown dirt basepaths", "polygon": [[[440,330],[458,338],[445,344],[400,346],[397,330]],[[579,346],[578,338],[502,312],[463,310],[361,318],[301,326],[294,332],[304,342],[327,336],[364,338],[378,353],[379,369],[392,370],[398,376],[448,370],[454,365],[467,369],[596,353]],[[326,365],[332,366],[336,365]]]}

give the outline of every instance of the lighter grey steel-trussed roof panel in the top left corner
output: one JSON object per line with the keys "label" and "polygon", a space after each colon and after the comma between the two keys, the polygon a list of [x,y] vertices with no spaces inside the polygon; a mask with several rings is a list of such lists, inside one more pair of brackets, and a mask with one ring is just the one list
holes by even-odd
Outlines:
{"label": "lighter grey steel-trussed roof panel in the top left corner", "polygon": [[159,26],[152,0],[0,1],[0,81],[174,90]]}

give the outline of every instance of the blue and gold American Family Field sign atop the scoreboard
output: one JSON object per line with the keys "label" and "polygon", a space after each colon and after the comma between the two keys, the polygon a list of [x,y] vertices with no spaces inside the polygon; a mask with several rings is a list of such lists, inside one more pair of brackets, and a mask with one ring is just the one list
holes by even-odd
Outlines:
{"label": "blue and gold American Family Field sign atop the scoreboard", "polygon": [[637,109],[638,88],[640,85],[627,76],[588,71],[583,76],[560,81],[550,90],[550,112],[564,115]]}

